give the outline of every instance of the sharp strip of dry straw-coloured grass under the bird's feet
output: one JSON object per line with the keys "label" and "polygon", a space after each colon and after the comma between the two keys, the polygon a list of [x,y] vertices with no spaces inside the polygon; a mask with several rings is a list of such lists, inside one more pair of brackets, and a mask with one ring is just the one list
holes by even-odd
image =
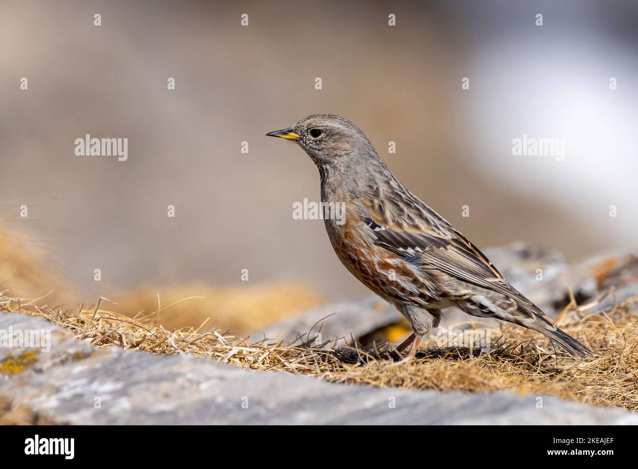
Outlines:
{"label": "sharp strip of dry straw-coloured grass under the bird's feet", "polygon": [[[190,299],[184,300],[186,302]],[[315,375],[330,382],[365,383],[439,391],[553,394],[598,406],[638,410],[638,297],[609,311],[568,305],[556,323],[595,350],[590,361],[555,355],[543,336],[503,324],[493,329],[489,352],[426,343],[417,359],[402,359],[392,347],[361,350],[333,343],[309,348],[301,343],[267,343],[235,338],[229,332],[198,328],[167,330],[155,321],[174,305],[133,318],[101,308],[52,311],[24,300],[0,297],[0,310],[47,318],[94,346],[121,346],[156,355],[192,354],[259,371],[281,370]],[[496,335],[494,335],[496,334]],[[507,338],[507,339],[506,339]]]}

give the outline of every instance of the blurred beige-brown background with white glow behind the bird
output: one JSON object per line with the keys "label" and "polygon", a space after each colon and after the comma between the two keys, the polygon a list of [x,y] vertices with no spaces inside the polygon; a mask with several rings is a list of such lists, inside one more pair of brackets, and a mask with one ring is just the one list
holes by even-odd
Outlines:
{"label": "blurred beige-brown background with white glow behind the bird", "polygon": [[[636,245],[635,1],[3,0],[0,13],[12,294],[131,310],[199,294],[213,301],[193,323],[224,313],[240,330],[264,320],[244,321],[248,309],[367,294],[323,222],[292,218],[294,202],[319,200],[313,163],[264,136],[318,112],[358,124],[480,247],[521,240],[575,259]],[[87,133],[128,138],[128,161],[76,156]],[[513,156],[523,135],[564,138],[565,159]]]}

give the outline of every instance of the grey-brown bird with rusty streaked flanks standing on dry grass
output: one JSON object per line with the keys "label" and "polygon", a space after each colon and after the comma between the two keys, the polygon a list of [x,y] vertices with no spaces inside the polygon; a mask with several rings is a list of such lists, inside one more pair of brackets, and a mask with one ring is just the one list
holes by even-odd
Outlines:
{"label": "grey-brown bird with rusty streaked flanks standing on dry grass", "polygon": [[[313,114],[272,131],[298,144],[319,170],[323,207],[343,204],[343,220],[324,216],[330,244],[350,273],[394,305],[413,334],[397,350],[438,327],[441,310],[497,318],[540,332],[585,359],[591,351],[552,324],[512,287],[479,248],[399,182],[366,134],[334,114]],[[328,214],[329,215],[329,214]]]}

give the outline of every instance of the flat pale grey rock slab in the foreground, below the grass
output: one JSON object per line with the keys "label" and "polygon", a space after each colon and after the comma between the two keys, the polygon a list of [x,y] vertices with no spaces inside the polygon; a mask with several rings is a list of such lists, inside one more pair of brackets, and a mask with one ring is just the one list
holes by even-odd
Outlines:
{"label": "flat pale grey rock slab in the foreground, below the grass", "polygon": [[95,350],[46,320],[0,313],[8,330],[50,331],[50,350],[0,348],[0,364],[36,357],[0,375],[0,396],[72,424],[638,424],[623,410],[551,396],[378,389],[191,355]]}

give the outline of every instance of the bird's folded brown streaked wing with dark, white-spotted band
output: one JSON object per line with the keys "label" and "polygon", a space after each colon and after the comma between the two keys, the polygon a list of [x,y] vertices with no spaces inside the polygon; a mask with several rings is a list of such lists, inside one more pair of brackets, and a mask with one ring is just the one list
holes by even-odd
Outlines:
{"label": "bird's folded brown streaked wing with dark, white-spotted band", "polygon": [[509,285],[489,259],[466,237],[418,198],[382,204],[360,198],[364,221],[376,244],[427,269],[438,269],[476,287],[503,294],[536,310]]}

